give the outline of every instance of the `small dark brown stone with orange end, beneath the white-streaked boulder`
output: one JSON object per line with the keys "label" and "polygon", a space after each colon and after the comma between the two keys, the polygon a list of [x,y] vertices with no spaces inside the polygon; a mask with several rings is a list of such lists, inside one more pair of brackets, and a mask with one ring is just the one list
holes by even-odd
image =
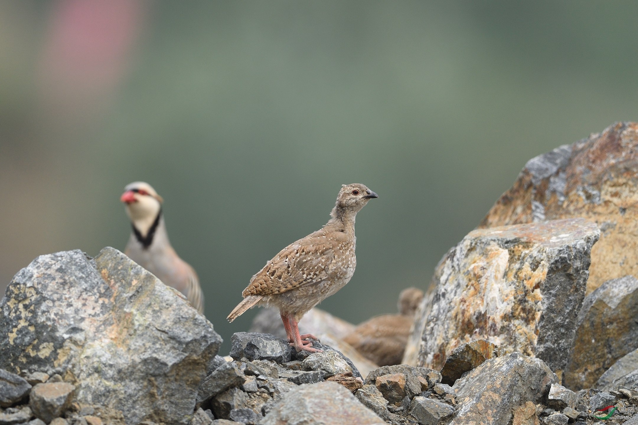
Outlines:
{"label": "small dark brown stone with orange end, beneath the white-streaked boulder", "polygon": [[501,354],[505,354],[505,352],[486,339],[476,339],[461,344],[445,359],[445,364],[441,369],[441,382],[453,385],[463,373],[476,368],[487,359],[493,359]]}

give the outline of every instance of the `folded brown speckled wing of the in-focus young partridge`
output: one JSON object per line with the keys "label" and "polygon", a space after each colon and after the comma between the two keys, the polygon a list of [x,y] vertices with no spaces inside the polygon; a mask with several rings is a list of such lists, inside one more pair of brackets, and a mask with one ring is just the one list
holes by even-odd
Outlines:
{"label": "folded brown speckled wing of the in-focus young partridge", "polygon": [[327,239],[305,237],[279,252],[250,280],[242,295],[282,294],[327,279],[334,271],[334,246]]}

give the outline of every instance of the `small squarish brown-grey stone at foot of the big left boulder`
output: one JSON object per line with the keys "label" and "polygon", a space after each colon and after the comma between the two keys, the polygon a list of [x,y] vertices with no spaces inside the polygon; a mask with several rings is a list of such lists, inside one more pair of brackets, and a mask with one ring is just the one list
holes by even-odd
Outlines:
{"label": "small squarish brown-grey stone at foot of the big left boulder", "polygon": [[31,389],[29,406],[38,419],[48,424],[71,406],[73,391],[75,386],[66,382],[38,384]]}

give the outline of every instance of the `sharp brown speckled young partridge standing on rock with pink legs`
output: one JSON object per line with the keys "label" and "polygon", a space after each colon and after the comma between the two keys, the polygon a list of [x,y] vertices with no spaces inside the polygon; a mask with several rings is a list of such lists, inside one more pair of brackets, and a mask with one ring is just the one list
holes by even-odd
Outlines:
{"label": "sharp brown speckled young partridge standing on rock with pink legs", "polygon": [[355,217],[375,192],[363,184],[344,184],[330,212],[330,220],[321,230],[286,246],[266,263],[253,278],[242,296],[244,301],[228,315],[232,322],[254,306],[272,306],[286,329],[288,342],[297,352],[318,352],[299,334],[297,323],[306,312],[343,288],[352,278],[355,257]]}

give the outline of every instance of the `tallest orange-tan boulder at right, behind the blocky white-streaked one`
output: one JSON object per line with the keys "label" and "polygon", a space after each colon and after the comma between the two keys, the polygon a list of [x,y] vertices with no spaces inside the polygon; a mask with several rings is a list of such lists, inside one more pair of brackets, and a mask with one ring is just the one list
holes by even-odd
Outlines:
{"label": "tallest orange-tan boulder at right, behind the blocky white-streaked one", "polygon": [[532,158],[480,227],[582,217],[602,234],[591,250],[587,294],[638,276],[638,123],[616,123]]}

